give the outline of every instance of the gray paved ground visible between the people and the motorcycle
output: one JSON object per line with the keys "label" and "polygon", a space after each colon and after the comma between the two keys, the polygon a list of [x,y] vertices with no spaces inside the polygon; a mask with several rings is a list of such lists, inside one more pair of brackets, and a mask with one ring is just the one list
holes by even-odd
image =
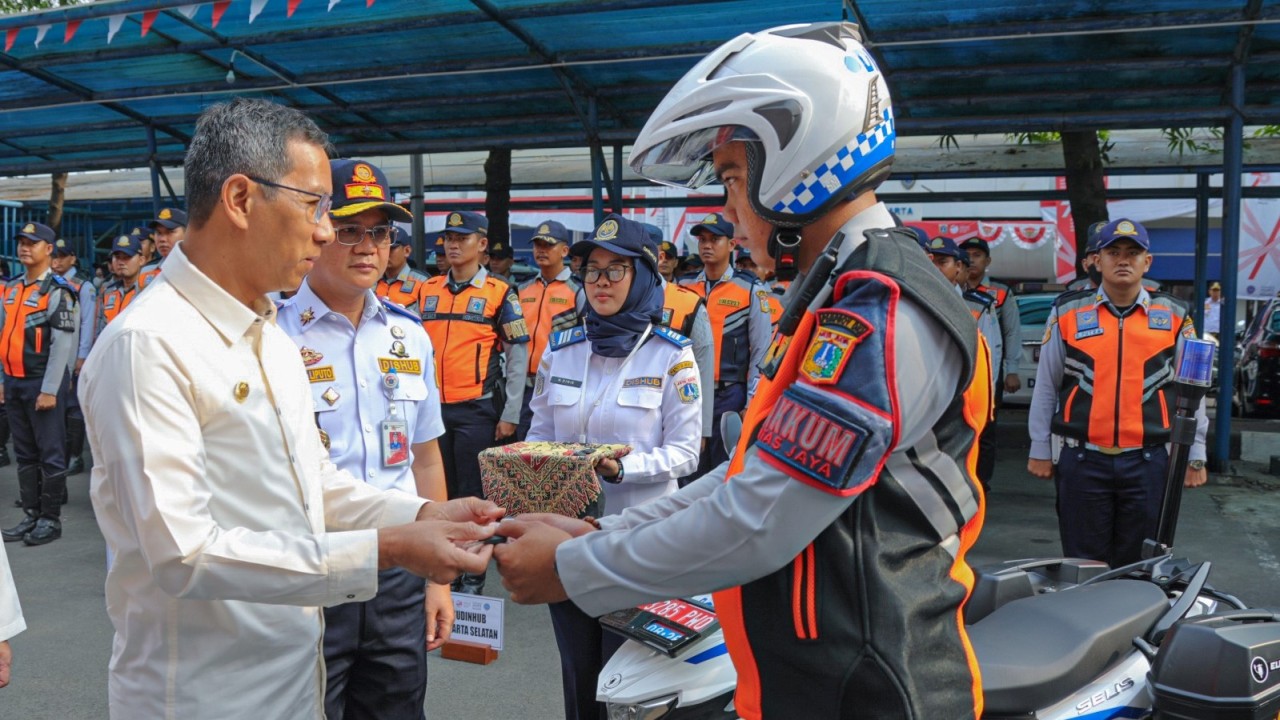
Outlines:
{"label": "gray paved ground visible between the people and the motorcycle", "polygon": [[[1275,421],[1280,432],[1280,421]],[[1052,486],[1025,468],[1025,415],[1001,418],[1001,459],[975,565],[1057,553]],[[88,503],[88,477],[70,482],[64,538],[40,548],[9,544],[29,629],[14,638],[13,684],[0,719],[106,717],[111,626],[102,606],[102,537]],[[0,469],[0,524],[17,521],[13,466]],[[1280,607],[1280,480],[1236,465],[1183,501],[1176,550],[1215,562],[1212,583],[1252,605]],[[495,578],[495,575],[494,575]],[[490,593],[503,596],[497,582]],[[229,688],[229,691],[233,691]],[[559,661],[547,610],[507,605],[507,650],[488,666],[430,660],[428,715],[447,719],[558,717]]]}

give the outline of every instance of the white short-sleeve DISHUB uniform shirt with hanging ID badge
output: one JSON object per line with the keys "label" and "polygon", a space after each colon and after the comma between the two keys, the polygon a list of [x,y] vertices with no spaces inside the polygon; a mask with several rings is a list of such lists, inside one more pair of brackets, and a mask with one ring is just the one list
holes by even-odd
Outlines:
{"label": "white short-sleeve DISHUB uniform shirt with hanging ID badge", "polygon": [[407,310],[389,309],[369,291],[360,327],[353,328],[302,281],[298,293],[280,306],[278,323],[298,343],[334,465],[379,489],[417,495],[412,452],[402,465],[383,466],[381,423],[390,414],[383,380],[396,368],[392,397],[396,416],[407,423],[410,443],[444,434],[435,352],[421,320]]}

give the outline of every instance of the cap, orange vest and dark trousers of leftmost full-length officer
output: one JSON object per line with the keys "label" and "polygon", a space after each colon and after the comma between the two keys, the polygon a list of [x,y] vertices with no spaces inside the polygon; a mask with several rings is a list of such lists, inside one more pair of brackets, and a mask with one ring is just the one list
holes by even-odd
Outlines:
{"label": "cap, orange vest and dark trousers of leftmost full-length officer", "polygon": [[[54,231],[27,223],[19,237],[52,243]],[[18,461],[18,489],[26,519],[4,530],[5,542],[45,544],[61,537],[67,497],[67,395],[76,357],[76,292],[52,269],[5,283],[0,305],[0,363],[4,400]],[[36,410],[51,395],[56,405]]]}

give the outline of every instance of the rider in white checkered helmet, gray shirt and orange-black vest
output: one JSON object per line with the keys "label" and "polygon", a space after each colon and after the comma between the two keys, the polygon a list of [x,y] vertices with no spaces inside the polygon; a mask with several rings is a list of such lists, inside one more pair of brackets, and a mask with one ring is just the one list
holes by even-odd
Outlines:
{"label": "rider in white checkered helmet, gray shirt and orange-black vest", "polygon": [[[746,719],[982,711],[960,618],[982,523],[986,415],[965,402],[978,331],[876,200],[893,138],[884,78],[852,24],[742,35],[676,83],[632,169],[719,179],[751,258],[796,277],[741,437],[728,464],[598,528],[499,529],[517,602],[568,597],[600,615],[722,588]],[[975,382],[989,402],[989,378]]]}

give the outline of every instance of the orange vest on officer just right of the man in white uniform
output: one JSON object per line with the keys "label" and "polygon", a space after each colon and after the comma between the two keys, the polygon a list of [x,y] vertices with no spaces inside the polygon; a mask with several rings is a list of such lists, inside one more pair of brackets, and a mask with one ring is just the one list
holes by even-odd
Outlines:
{"label": "orange vest on officer just right of the man in white uniform", "polygon": [[506,282],[485,274],[454,292],[449,273],[422,286],[422,327],[435,347],[440,402],[465,402],[494,392],[502,380],[502,342],[527,342],[520,299]]}

